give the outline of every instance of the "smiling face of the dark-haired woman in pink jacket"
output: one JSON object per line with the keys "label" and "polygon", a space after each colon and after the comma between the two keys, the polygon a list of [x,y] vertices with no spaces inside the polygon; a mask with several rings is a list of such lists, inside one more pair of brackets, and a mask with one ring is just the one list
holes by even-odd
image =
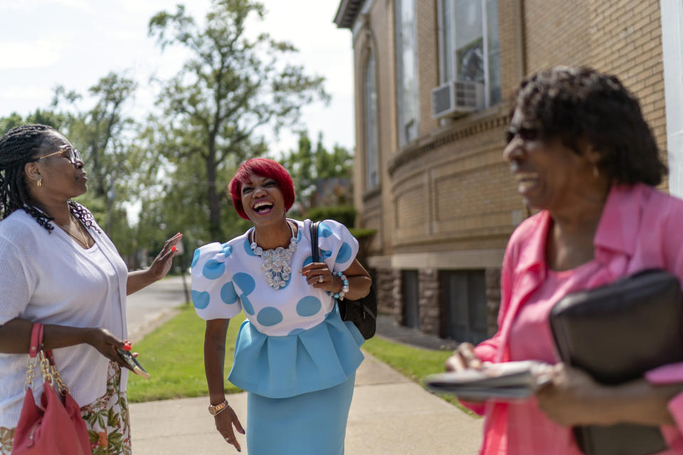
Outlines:
{"label": "smiling face of the dark-haired woman in pink jacket", "polygon": [[517,191],[530,207],[566,210],[576,196],[597,191],[595,157],[588,158],[589,147],[577,153],[558,138],[541,137],[538,126],[519,109],[514,111],[508,139],[503,156],[517,178]]}

